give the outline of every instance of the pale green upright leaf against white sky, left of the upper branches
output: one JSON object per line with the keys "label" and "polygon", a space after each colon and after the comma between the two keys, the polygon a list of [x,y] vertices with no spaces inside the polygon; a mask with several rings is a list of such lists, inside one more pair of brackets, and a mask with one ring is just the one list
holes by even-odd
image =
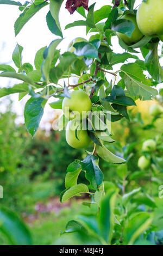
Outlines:
{"label": "pale green upright leaf against white sky, left of the upper branches", "polygon": [[46,81],[48,81],[48,78],[49,78],[49,71],[51,69],[51,64],[54,58],[55,49],[59,45],[61,40],[62,39],[56,39],[52,41],[49,47],[46,48],[45,50],[46,56],[45,56],[45,60],[42,63],[42,76],[43,76],[43,79]]}

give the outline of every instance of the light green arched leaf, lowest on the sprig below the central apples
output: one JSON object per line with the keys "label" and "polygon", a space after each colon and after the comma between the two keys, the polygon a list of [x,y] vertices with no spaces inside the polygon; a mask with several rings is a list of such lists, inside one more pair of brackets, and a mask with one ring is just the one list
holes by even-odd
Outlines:
{"label": "light green arched leaf, lowest on the sprig below the central apples", "polygon": [[62,196],[61,203],[64,203],[66,200],[78,196],[80,193],[89,193],[89,189],[85,184],[78,184],[74,185],[73,187],[69,188],[65,191]]}

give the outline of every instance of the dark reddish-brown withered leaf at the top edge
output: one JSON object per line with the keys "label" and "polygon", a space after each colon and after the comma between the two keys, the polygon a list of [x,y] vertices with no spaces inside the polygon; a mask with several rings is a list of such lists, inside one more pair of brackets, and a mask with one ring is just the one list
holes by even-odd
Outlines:
{"label": "dark reddish-brown withered leaf at the top edge", "polygon": [[76,11],[76,9],[81,6],[83,6],[88,11],[88,2],[89,0],[67,0],[66,9],[70,12],[70,14],[73,14],[74,11]]}

